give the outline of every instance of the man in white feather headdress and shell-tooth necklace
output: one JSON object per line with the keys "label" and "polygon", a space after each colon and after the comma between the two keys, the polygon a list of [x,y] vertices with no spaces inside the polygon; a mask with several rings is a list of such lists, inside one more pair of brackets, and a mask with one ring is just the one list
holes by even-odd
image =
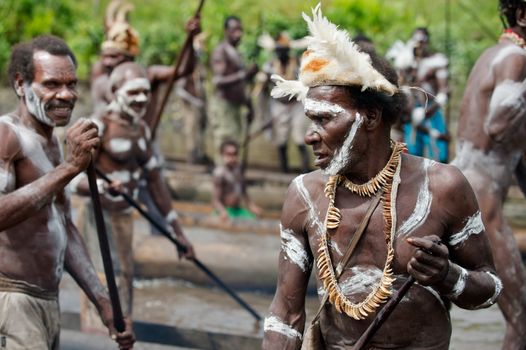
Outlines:
{"label": "man in white feather headdress and shell-tooth necklace", "polygon": [[[404,104],[389,64],[359,51],[319,7],[304,18],[310,37],[299,80],[276,77],[273,96],[303,100],[311,120],[305,141],[321,170],[297,177],[286,195],[263,349],[300,348],[315,263],[326,349],[350,349],[413,276],[417,283],[369,346],[446,350],[449,301],[482,308],[500,293],[475,195],[455,167],[405,154],[389,139]],[[368,208],[365,232],[355,237]]]}

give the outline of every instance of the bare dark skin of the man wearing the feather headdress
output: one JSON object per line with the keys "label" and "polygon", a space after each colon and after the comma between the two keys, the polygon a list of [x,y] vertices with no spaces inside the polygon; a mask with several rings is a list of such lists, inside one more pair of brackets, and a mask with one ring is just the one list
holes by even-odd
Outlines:
{"label": "bare dark skin of the man wearing the feather headdress", "polygon": [[[381,110],[357,110],[349,94],[349,90],[338,86],[309,89],[307,98],[338,105],[344,112],[331,114],[306,110],[312,124],[305,141],[313,147],[315,164],[324,169],[341,147],[349,128],[362,118],[352,143],[352,152],[340,173],[354,183],[364,183],[376,175],[390,157],[390,125],[385,124]],[[413,227],[406,235],[395,235],[392,265],[396,276],[394,289],[399,289],[409,275],[417,280],[418,285],[410,289],[408,298],[398,305],[374,336],[370,346],[375,348],[448,349],[451,336],[449,312],[435,294],[423,286],[429,286],[442,295],[449,293],[460,274],[458,266],[469,271],[469,279],[463,293],[453,300],[455,304],[462,308],[474,308],[495,292],[492,279],[485,273],[493,272],[494,268],[484,233],[469,236],[459,246],[452,247],[448,243],[451,235],[461,231],[466,219],[478,210],[471,188],[456,168],[438,163],[424,168],[424,162],[423,158],[402,155],[401,183],[396,199],[397,226],[400,227],[412,215],[426,177],[433,199],[429,215],[422,225]],[[281,225],[297,239],[311,262],[319,255],[319,234],[325,232],[323,222],[328,200],[323,188],[327,179],[320,171],[297,179],[290,186],[283,206]],[[298,185],[301,183],[303,185]],[[342,258],[370,202],[370,197],[360,197],[342,186],[338,187],[335,205],[341,211],[342,220],[337,229],[330,231],[332,248],[329,251],[333,266]],[[373,213],[339,281],[365,278],[371,274],[379,278],[381,275],[387,254],[381,207]],[[299,334],[304,331],[305,292],[311,271],[312,268],[303,271],[287,256],[286,251],[280,252],[278,285],[270,314]],[[320,287],[319,279],[317,282]],[[376,283],[375,278],[373,284]],[[345,295],[355,303],[362,301],[370,292],[370,289],[360,289],[357,283],[353,286]],[[327,304],[320,319],[327,349],[350,348],[374,315],[373,312],[365,320],[356,321],[338,313],[332,304]],[[415,329],[418,331],[415,332]],[[300,346],[298,337],[275,331],[265,332],[263,349],[299,349]]]}

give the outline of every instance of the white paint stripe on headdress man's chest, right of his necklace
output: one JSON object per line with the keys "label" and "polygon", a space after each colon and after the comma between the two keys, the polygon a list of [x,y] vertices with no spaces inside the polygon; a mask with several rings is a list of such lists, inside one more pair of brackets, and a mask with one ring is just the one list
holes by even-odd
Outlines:
{"label": "white paint stripe on headdress man's chest, right of his necklace", "polygon": [[422,225],[429,216],[431,211],[431,203],[433,202],[433,194],[429,190],[429,173],[428,169],[434,162],[430,159],[425,159],[422,167],[425,172],[424,183],[418,191],[418,197],[416,199],[415,208],[411,215],[398,229],[398,236],[404,237],[409,233],[416,230]]}

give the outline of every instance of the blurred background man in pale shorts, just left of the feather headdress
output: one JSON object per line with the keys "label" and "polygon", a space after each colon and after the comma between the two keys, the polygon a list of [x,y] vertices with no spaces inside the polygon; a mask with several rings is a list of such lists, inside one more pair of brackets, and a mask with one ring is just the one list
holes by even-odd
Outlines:
{"label": "blurred background man in pale shorts, just left of the feather headdress", "polygon": [[[268,81],[270,81],[272,74],[279,74],[288,80],[297,76],[298,59],[290,55],[290,42],[287,32],[281,32],[278,35],[274,48],[275,57],[263,67],[268,75]],[[289,136],[291,136],[301,157],[301,171],[303,173],[309,172],[309,155],[303,140],[306,121],[302,104],[288,98],[271,99],[270,114],[272,115],[273,141],[278,146],[281,171],[289,172],[288,142]]]}

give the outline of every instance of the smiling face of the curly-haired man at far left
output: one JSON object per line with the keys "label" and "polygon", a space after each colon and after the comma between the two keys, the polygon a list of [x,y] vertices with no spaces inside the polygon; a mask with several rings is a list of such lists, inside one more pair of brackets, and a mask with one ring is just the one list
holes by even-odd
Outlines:
{"label": "smiling face of the curly-haired man at far left", "polygon": [[69,56],[36,51],[33,66],[33,81],[24,82],[24,98],[29,113],[48,126],[68,124],[78,98],[73,60]]}

